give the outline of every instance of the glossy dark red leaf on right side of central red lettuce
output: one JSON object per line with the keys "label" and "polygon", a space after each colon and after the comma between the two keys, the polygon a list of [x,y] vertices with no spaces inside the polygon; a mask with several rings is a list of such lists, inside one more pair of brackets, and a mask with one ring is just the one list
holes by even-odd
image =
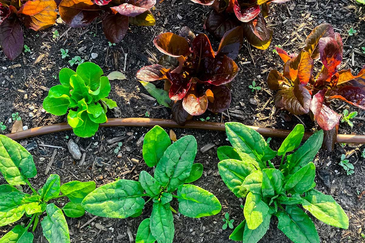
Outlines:
{"label": "glossy dark red leaf on right side of central red lettuce", "polygon": [[214,62],[206,70],[206,79],[204,82],[212,85],[224,85],[231,82],[238,73],[238,66],[231,58],[224,55],[216,57]]}

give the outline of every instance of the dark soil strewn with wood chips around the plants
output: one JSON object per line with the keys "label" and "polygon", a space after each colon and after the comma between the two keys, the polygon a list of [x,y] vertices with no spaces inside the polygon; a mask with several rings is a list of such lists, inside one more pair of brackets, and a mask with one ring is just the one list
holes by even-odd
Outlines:
{"label": "dark soil strewn with wood chips around the plants", "polygon": [[[66,121],[66,116],[56,117],[45,113],[42,109],[42,101],[50,87],[58,84],[58,72],[62,67],[69,67],[68,60],[73,56],[82,56],[85,60],[95,62],[106,74],[111,71],[122,71],[128,78],[123,81],[111,81],[112,91],[110,98],[114,99],[121,110],[120,117],[145,117],[146,111],[151,118],[170,118],[170,110],[160,108],[156,102],[149,101],[141,93],[148,94],[136,81],[136,71],[146,64],[155,62],[160,53],[153,46],[153,38],[162,32],[171,31],[177,33],[182,26],[189,26],[195,33],[204,32],[203,20],[210,12],[210,8],[194,4],[190,0],[165,0],[157,4],[153,10],[157,25],[154,27],[135,27],[130,29],[124,40],[116,46],[108,46],[104,38],[101,23],[95,21],[93,25],[85,28],[72,29],[60,23],[46,31],[33,32],[24,30],[25,43],[31,48],[31,53],[23,53],[14,62],[10,62],[0,52],[0,121],[3,121],[11,131],[12,124],[7,122],[12,113],[19,112],[23,125],[28,128],[54,124]],[[364,6],[350,0],[291,0],[283,5],[271,4],[268,23],[274,30],[272,45],[266,50],[257,50],[245,44],[237,59],[240,71],[238,77],[232,82],[232,103],[224,114],[205,113],[203,118],[210,117],[209,121],[226,122],[239,121],[246,125],[292,129],[301,121],[287,113],[277,110],[273,104],[274,92],[266,85],[266,76],[273,68],[282,69],[280,58],[273,54],[274,45],[281,45],[288,52],[299,52],[306,36],[320,23],[331,23],[337,32],[340,32],[344,42],[344,60],[342,68],[352,68],[358,72],[365,64],[365,55],[361,54],[361,47],[365,46]],[[353,27],[357,30],[354,36],[348,36],[347,31]],[[52,39],[51,32],[58,30],[62,35],[57,40]],[[66,33],[66,34],[65,34]],[[348,37],[347,37],[348,36]],[[215,49],[218,43],[214,42]],[[61,59],[60,48],[68,49],[70,57]],[[149,52],[147,52],[149,50]],[[97,53],[96,59],[91,59],[91,53]],[[151,53],[151,54],[148,54]],[[250,55],[252,54],[252,56]],[[354,55],[354,63],[352,63]],[[244,64],[250,62],[250,64]],[[20,64],[14,66],[16,64]],[[354,64],[354,65],[353,65]],[[72,68],[76,68],[73,66]],[[248,86],[255,81],[262,90],[254,93]],[[155,83],[162,87],[162,83]],[[30,109],[31,108],[31,109]],[[335,101],[333,108],[338,113],[347,108],[350,111],[357,110],[358,119],[354,119],[354,127],[340,124],[340,133],[365,134],[365,112],[346,104]],[[31,113],[31,114],[30,114]],[[115,113],[109,112],[108,117],[114,117]],[[194,119],[198,119],[195,117]],[[316,128],[316,124],[307,116],[300,116],[307,131]],[[22,140],[25,146],[35,142],[37,147],[31,150],[38,169],[38,176],[31,179],[35,188],[40,188],[51,173],[61,176],[61,183],[69,180],[89,181],[94,180],[97,186],[113,181],[115,178],[138,180],[139,172],[151,171],[142,160],[141,138],[148,131],[147,128],[100,128],[92,138],[77,138],[69,132],[55,133]],[[226,243],[231,242],[228,237],[232,230],[222,230],[222,218],[225,212],[235,219],[234,226],[243,220],[240,207],[242,199],[237,199],[224,185],[218,174],[218,158],[216,148],[228,145],[226,134],[215,131],[197,131],[188,129],[175,129],[177,137],[192,134],[198,142],[198,154],[196,162],[204,165],[204,175],[195,184],[214,193],[222,203],[222,211],[215,216],[191,219],[180,214],[174,214],[175,238],[177,243]],[[85,161],[73,160],[67,150],[66,136],[76,140],[83,153]],[[115,142],[108,143],[111,138],[120,137],[123,142],[119,158],[114,153]],[[272,148],[277,149],[282,140],[273,139],[270,142]],[[214,148],[203,153],[200,149],[208,143],[215,144]],[[52,145],[62,148],[52,148]],[[361,151],[364,146],[346,145],[343,148],[336,145],[333,152],[320,150],[315,159],[318,176],[316,177],[316,189],[331,194],[345,209],[350,218],[350,228],[339,230],[314,220],[318,227],[321,242],[365,242],[361,233],[365,234],[365,173],[364,158]],[[44,175],[46,166],[55,154],[48,175]],[[349,155],[349,160],[355,166],[355,173],[346,176],[338,165],[341,154]],[[105,164],[96,164],[96,157],[103,158]],[[131,159],[136,160],[131,160]],[[82,162],[82,163],[81,163]],[[97,166],[102,165],[102,166]],[[329,180],[320,178],[328,177]],[[5,183],[0,179],[0,183]],[[326,185],[325,185],[326,183]],[[24,190],[29,191],[27,187]],[[66,201],[55,201],[62,207]],[[177,209],[177,203],[172,206]],[[93,215],[85,215],[78,219],[68,218],[72,242],[99,243],[99,242],[134,242],[139,223],[151,213],[151,204],[146,204],[143,215],[129,219],[107,219],[97,217],[87,223]],[[25,217],[21,222],[27,223]],[[86,224],[87,223],[87,224]],[[84,225],[85,224],[85,225]],[[260,242],[287,243],[288,238],[277,230],[277,220],[273,217],[270,229]],[[83,226],[83,227],[82,227]],[[0,236],[5,234],[9,227],[0,228]],[[35,232],[34,242],[46,242],[42,236],[41,227]]]}

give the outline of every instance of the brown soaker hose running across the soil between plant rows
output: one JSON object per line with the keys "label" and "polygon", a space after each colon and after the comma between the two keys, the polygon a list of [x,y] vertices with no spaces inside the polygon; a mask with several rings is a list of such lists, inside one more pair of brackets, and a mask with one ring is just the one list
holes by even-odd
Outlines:
{"label": "brown soaker hose running across the soil between plant rows", "polygon": [[[203,129],[203,130],[215,130],[224,132],[224,123],[220,122],[203,122],[203,121],[188,121],[185,126],[180,126],[173,120],[169,119],[157,119],[157,118],[110,118],[107,122],[100,124],[102,127],[110,126],[146,126],[153,127],[155,125],[161,126],[163,128],[187,128],[187,129]],[[262,136],[266,137],[277,137],[286,138],[291,132],[289,130],[283,129],[273,129],[273,128],[260,128],[257,126],[248,126],[256,130]],[[20,140],[28,137],[35,137],[47,133],[62,132],[72,130],[72,128],[67,124],[67,122],[40,126],[38,128],[31,128],[28,130],[5,134],[13,140]],[[312,133],[304,133],[304,140],[307,140]],[[338,134],[338,143],[346,144],[365,144],[365,135],[348,135],[348,134]]]}

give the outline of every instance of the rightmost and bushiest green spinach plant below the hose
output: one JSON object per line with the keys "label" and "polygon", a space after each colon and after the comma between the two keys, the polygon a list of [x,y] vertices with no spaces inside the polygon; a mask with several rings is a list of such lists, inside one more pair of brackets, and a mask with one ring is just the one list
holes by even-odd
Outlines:
{"label": "rightmost and bushiest green spinach plant below the hose", "polygon": [[[315,165],[311,161],[322,145],[323,130],[299,147],[304,135],[304,126],[299,124],[277,152],[258,132],[238,122],[227,122],[226,132],[233,147],[218,148],[219,174],[237,197],[246,199],[245,220],[230,239],[256,243],[276,216],[278,228],[293,242],[319,243],[314,223],[296,204],[326,224],[349,227],[346,213],[333,197],[314,189]],[[279,169],[270,162],[276,155],[282,156]]]}

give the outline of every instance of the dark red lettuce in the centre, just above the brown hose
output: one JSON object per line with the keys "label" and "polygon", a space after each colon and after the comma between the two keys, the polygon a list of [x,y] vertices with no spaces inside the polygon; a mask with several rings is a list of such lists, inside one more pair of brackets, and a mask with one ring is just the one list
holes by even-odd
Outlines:
{"label": "dark red lettuce in the centre, just above the brown hose", "polygon": [[241,27],[233,28],[222,38],[218,51],[213,51],[205,34],[195,34],[182,28],[179,35],[164,33],[154,39],[154,45],[163,54],[159,64],[141,68],[136,77],[151,82],[166,80],[172,103],[172,114],[178,124],[184,125],[193,115],[205,110],[219,113],[228,109],[231,91],[228,84],[236,77],[235,58],[241,47]]}

